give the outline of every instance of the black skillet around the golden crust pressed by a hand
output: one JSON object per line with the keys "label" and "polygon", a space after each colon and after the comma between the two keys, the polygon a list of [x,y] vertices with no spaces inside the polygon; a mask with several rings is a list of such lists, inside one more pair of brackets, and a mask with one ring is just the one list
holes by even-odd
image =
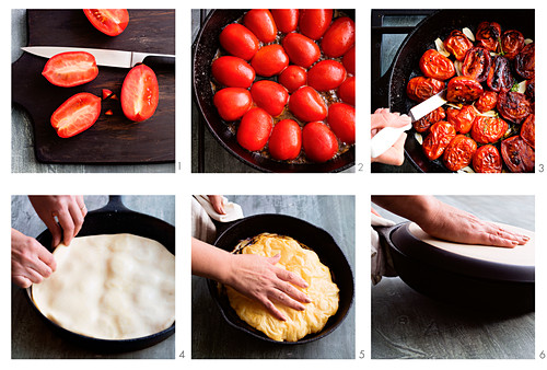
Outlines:
{"label": "black skillet around the golden crust pressed by a hand", "polygon": [[321,262],[330,268],[333,280],[340,289],[338,311],[334,316],[328,319],[323,331],[310,334],[298,342],[277,342],[242,321],[230,305],[226,296],[219,293],[217,281],[208,280],[209,291],[217,302],[222,316],[224,316],[230,325],[256,338],[275,344],[304,344],[327,336],[342,323],[353,302],[353,275],[342,251],[336,244],[333,236],[325,230],[294,217],[269,213],[246,217],[232,224],[217,238],[214,245],[224,251],[232,252],[241,240],[256,236],[263,232],[291,236],[317,253]]}

